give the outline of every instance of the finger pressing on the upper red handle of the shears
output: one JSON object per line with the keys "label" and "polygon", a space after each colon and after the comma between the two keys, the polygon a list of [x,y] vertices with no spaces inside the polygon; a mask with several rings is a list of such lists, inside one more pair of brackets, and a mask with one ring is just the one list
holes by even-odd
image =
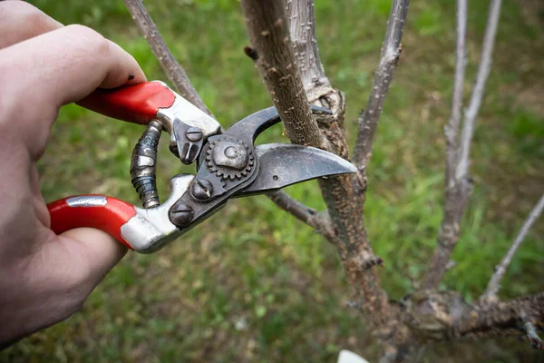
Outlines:
{"label": "finger pressing on the upper red handle of the shears", "polygon": [[68,25],[0,51],[0,81],[11,92],[60,106],[98,87],[141,83],[131,54],[83,25]]}

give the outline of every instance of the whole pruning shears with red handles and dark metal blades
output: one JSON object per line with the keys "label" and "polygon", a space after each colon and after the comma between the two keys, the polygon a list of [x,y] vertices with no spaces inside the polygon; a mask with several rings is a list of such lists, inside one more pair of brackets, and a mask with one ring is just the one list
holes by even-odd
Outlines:
{"label": "whole pruning shears with red handles and dark metal blades", "polygon": [[[106,231],[131,250],[151,253],[177,239],[231,198],[277,191],[297,182],[356,172],[333,153],[285,143],[255,145],[257,136],[278,123],[274,107],[250,114],[227,131],[207,113],[160,81],[115,90],[97,90],[81,102],[106,116],[146,125],[131,157],[131,182],[143,208],[103,195],[78,195],[47,205],[52,230],[78,227]],[[313,113],[330,113],[312,107]],[[157,148],[170,133],[170,152],[196,175],[170,180],[170,197],[160,203],[156,187]]]}

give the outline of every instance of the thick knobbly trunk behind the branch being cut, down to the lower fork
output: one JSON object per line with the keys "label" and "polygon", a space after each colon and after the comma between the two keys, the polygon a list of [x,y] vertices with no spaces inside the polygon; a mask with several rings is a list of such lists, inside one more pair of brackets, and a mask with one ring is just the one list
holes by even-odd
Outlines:
{"label": "thick knobbly trunk behind the branch being cut, down to the lower fork", "polygon": [[[321,132],[336,154],[348,159],[345,137],[344,93],[332,87],[319,60],[316,41],[316,18],[313,0],[287,0],[290,34],[296,63],[302,74],[306,95],[311,103],[324,106],[333,117],[317,119]],[[355,306],[364,314],[370,327],[381,329],[384,349],[392,347],[395,329],[399,328],[397,310],[387,300],[380,287],[374,266],[383,260],[374,255],[364,228],[364,190],[362,173],[341,175],[319,182],[334,226],[333,242],[342,261],[348,284],[355,292]],[[399,329],[402,330],[402,329]]]}

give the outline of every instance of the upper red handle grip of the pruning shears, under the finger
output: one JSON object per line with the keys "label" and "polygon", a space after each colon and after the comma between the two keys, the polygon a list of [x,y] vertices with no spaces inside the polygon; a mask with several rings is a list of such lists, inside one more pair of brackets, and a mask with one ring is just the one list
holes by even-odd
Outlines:
{"label": "upper red handle grip of the pruning shears, under the finger", "polygon": [[160,108],[170,107],[176,94],[163,83],[145,82],[113,90],[98,89],[78,104],[129,123],[147,124]]}

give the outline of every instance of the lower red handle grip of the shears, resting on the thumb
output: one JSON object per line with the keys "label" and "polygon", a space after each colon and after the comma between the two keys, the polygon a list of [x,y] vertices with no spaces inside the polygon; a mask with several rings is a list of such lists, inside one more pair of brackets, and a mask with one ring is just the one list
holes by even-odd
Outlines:
{"label": "lower red handle grip of the shears, resting on the thumb", "polygon": [[78,195],[47,204],[51,229],[56,233],[78,227],[92,227],[110,234],[132,249],[121,236],[121,226],[136,215],[132,204],[103,195]]}

